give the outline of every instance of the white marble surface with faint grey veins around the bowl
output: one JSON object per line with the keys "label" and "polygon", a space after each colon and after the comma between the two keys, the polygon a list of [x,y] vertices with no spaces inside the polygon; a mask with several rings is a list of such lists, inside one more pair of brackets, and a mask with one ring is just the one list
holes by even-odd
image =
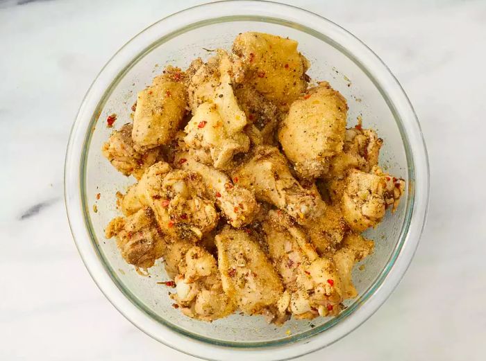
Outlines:
{"label": "white marble surface with faint grey veins around the bowl", "polygon": [[[112,53],[201,2],[0,1],[0,360],[194,360],[138,331],[90,279],[62,168],[78,105]],[[486,1],[288,2],[385,60],[431,166],[428,224],[399,287],[357,331],[300,360],[485,360]]]}

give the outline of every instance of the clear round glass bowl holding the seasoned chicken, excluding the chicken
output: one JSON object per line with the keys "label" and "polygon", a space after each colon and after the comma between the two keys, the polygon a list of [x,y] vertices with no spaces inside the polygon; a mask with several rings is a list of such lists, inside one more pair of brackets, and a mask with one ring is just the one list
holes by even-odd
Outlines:
{"label": "clear round glass bowl holding the seasoned chicken, excluding the chicken", "polygon": [[[349,124],[385,139],[380,165],[403,177],[408,189],[394,215],[367,236],[376,251],[355,267],[359,296],[334,318],[292,319],[283,327],[263,317],[239,314],[212,323],[187,318],[171,306],[160,263],[150,276],[127,265],[103,229],[117,215],[117,190],[134,179],[118,173],[101,155],[112,129],[130,121],[137,90],[165,64],[185,68],[212,49],[230,48],[235,35],[259,31],[299,42],[312,64],[312,79],[328,80],[349,103]],[[101,198],[97,200],[97,193]],[[101,70],[87,91],[72,128],[65,164],[65,201],[78,251],[103,294],[144,333],[174,349],[210,360],[283,360],[335,342],[370,317],[407,269],[424,227],[428,204],[428,159],[412,105],[399,82],[360,40],[340,26],[299,8],[264,1],[223,1],[196,6],[158,21],[131,39]],[[94,210],[96,205],[97,211]]]}

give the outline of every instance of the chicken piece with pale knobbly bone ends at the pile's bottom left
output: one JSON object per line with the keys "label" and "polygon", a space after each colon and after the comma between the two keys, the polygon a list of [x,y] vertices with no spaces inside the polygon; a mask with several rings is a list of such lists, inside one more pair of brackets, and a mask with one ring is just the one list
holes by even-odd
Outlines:
{"label": "chicken piece with pale knobbly bone ends at the pile's bottom left", "polygon": [[[216,260],[206,249],[193,246],[178,247],[178,275],[176,293],[171,294],[184,315],[203,321],[226,317],[236,309],[235,302],[226,295]],[[175,252],[171,254],[176,258]],[[171,264],[175,264],[171,260]]]}

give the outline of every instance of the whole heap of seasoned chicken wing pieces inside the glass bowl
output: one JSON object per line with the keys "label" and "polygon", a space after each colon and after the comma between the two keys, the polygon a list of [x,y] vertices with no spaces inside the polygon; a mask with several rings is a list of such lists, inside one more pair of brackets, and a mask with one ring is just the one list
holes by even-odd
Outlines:
{"label": "whole heap of seasoned chicken wing pieces inside the glass bowl", "polygon": [[170,280],[157,283],[187,317],[338,315],[374,249],[362,231],[405,191],[378,166],[383,139],[361,117],[346,124],[342,94],[310,87],[297,45],[242,33],[231,51],[166,67],[103,145],[137,180],[106,236],[140,272],[162,258]]}

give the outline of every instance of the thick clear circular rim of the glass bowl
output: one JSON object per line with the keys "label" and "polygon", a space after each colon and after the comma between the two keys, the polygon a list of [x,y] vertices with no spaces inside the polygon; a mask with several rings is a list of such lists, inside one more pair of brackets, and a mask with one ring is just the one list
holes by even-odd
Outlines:
{"label": "thick clear circular rim of the glass bowl", "polygon": [[[235,12],[238,15],[235,15]],[[153,44],[160,44],[161,38],[173,35],[178,31],[187,31],[191,26],[203,26],[209,24],[211,20],[237,21],[238,19],[253,19],[255,17],[258,17],[260,21],[269,21],[269,19],[286,21],[310,30],[313,32],[311,35],[316,36],[314,33],[317,33],[320,35],[317,36],[319,39],[332,42],[333,46],[344,52],[375,82],[376,87],[387,100],[390,109],[394,111],[396,116],[399,116],[396,121],[405,140],[405,148],[409,147],[410,154],[407,154],[407,160],[410,195],[407,206],[408,222],[407,220],[404,222],[404,225],[408,227],[402,227],[401,242],[397,243],[392,255],[393,259],[389,261],[387,267],[365,292],[366,297],[355,302],[357,306],[352,312],[349,312],[349,316],[353,315],[353,317],[335,317],[335,324],[321,330],[318,329],[318,332],[315,332],[314,335],[294,338],[294,340],[290,337],[290,340],[286,340],[284,344],[263,342],[256,347],[252,346],[251,349],[242,349],[238,348],[239,345],[224,346],[224,344],[217,344],[217,342],[208,344],[206,339],[201,340],[194,338],[194,335],[189,337],[187,333],[182,334],[165,324],[156,322],[144,310],[125,297],[125,294],[115,284],[115,280],[110,278],[106,268],[101,264],[97,249],[93,245],[93,235],[90,234],[87,224],[85,224],[86,214],[84,211],[86,207],[82,195],[82,178],[84,175],[83,160],[85,159],[87,144],[89,144],[90,128],[93,121],[96,121],[94,119],[95,110],[101,103],[100,99],[110,93],[115,80],[129,69],[134,60],[133,54],[137,54],[135,59],[140,58],[144,55],[144,52],[149,51],[148,49]],[[299,21],[296,21],[297,19]],[[305,19],[305,21],[302,19]],[[308,26],[309,24],[312,24],[312,28]],[[324,30],[324,28],[326,28],[326,34],[332,33],[333,37],[324,35],[319,31]],[[326,39],[323,39],[323,37]],[[352,46],[353,51],[346,49],[344,44]],[[357,53],[358,56],[356,56]],[[110,86],[107,87],[107,85]],[[410,147],[410,144],[413,147]],[[332,21],[295,6],[270,1],[218,1],[194,6],[169,15],[135,35],[112,56],[88,89],[72,127],[65,159],[65,205],[69,226],[78,252],[101,292],[124,317],[147,335],[183,353],[211,360],[228,360],[229,358],[235,360],[246,360],[246,358],[252,358],[252,360],[290,359],[321,349],[360,326],[362,322],[376,312],[391,294],[412,260],[426,220],[428,188],[428,157],[417,116],[398,80],[394,78],[386,65],[358,38]],[[405,233],[403,232],[404,228],[407,228]],[[373,289],[373,292],[370,291],[371,289]],[[211,341],[209,340],[209,342]],[[246,344],[242,346],[248,347]]]}

